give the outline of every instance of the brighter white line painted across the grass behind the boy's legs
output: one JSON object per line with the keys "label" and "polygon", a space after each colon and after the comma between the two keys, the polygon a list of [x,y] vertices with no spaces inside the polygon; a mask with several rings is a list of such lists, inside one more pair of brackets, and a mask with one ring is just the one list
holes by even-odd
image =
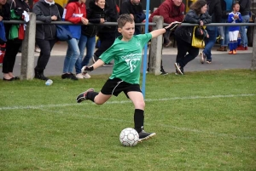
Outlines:
{"label": "brighter white line painted across the grass behind the boy's legs", "polygon": [[[168,101],[168,100],[197,100],[197,99],[213,99],[213,98],[232,98],[232,97],[248,97],[256,94],[229,94],[229,95],[211,95],[211,96],[191,96],[191,97],[173,97],[164,99],[146,99],[145,101]],[[123,101],[108,101],[106,104],[123,104],[131,103],[131,100]],[[21,109],[41,109],[45,107],[65,107],[70,105],[81,105],[77,103],[73,104],[56,104],[56,105],[26,105],[26,106],[9,106],[0,107],[0,111],[4,110],[21,110]],[[94,103],[83,103],[83,105],[95,105]]]}

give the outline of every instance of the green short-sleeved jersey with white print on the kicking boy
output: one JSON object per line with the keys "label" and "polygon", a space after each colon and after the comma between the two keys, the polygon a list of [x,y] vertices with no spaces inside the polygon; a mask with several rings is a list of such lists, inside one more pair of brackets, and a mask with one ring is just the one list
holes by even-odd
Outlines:
{"label": "green short-sleeved jersey with white print on the kicking boy", "polygon": [[133,36],[128,42],[117,37],[113,45],[100,56],[106,64],[114,60],[113,72],[109,78],[118,77],[126,83],[139,83],[143,48],[151,38],[151,33]]}

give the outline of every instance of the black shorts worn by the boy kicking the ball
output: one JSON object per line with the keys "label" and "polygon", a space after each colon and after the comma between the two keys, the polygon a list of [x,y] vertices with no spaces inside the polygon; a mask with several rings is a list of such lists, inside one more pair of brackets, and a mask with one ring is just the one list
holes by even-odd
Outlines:
{"label": "black shorts worn by the boy kicking the ball", "polygon": [[139,84],[131,84],[122,81],[119,78],[108,79],[108,81],[102,87],[102,94],[118,96],[119,93],[124,92],[126,97],[130,91],[142,92]]}

